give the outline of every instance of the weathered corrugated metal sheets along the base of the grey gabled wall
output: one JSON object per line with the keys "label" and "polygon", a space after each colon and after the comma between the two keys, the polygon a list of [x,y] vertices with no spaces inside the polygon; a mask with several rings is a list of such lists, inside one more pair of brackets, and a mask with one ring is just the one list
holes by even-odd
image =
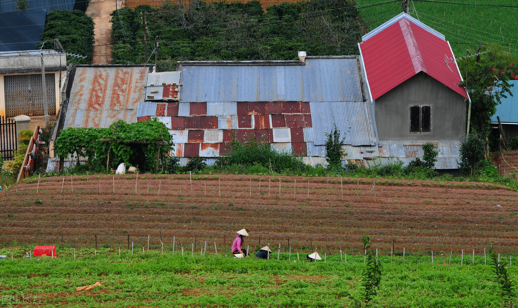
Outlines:
{"label": "weathered corrugated metal sheets along the base of the grey gabled wall", "polygon": [[[458,169],[457,161],[460,159],[459,145],[460,140],[439,139],[437,142],[437,162],[436,169]],[[379,148],[380,157],[386,161],[386,158],[397,158],[407,165],[416,157],[423,157],[422,143],[416,140],[382,140],[383,147]]]}

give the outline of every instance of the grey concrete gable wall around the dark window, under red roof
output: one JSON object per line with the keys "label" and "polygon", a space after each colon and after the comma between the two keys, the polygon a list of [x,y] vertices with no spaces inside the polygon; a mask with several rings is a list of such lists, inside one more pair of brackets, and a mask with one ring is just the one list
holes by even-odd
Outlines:
{"label": "grey concrete gable wall around the dark window, under red roof", "polygon": [[[431,132],[410,133],[410,105],[431,106]],[[420,73],[375,101],[380,139],[458,139],[466,133],[464,97]]]}

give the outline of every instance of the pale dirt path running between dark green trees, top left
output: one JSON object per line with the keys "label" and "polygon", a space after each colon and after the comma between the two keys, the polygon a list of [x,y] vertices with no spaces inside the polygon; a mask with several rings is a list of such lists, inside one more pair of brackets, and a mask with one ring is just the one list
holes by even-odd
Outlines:
{"label": "pale dirt path running between dark green trees, top left", "polygon": [[[121,2],[117,0],[96,0],[90,1],[87,8],[87,15],[94,19],[95,23],[95,45],[92,49],[92,64],[111,64],[111,23],[110,13],[117,7],[121,7]],[[99,46],[100,45],[100,46]]]}

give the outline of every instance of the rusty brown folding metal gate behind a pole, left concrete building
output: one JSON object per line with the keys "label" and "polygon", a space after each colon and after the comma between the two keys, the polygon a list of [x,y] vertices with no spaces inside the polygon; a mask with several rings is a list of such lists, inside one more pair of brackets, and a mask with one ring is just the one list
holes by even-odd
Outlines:
{"label": "rusty brown folding metal gate behind a pole, left concrete building", "polygon": [[[54,77],[54,73],[45,74],[49,115],[56,114]],[[4,76],[6,116],[44,116],[42,83],[41,74]]]}

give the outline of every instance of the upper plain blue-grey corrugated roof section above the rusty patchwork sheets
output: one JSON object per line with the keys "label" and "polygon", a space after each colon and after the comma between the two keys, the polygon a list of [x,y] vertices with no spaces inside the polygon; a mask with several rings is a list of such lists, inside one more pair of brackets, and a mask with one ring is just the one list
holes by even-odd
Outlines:
{"label": "upper plain blue-grey corrugated roof section above the rusty patchwork sheets", "polygon": [[357,57],[307,58],[305,65],[183,62],[180,101],[358,102],[361,79]]}

